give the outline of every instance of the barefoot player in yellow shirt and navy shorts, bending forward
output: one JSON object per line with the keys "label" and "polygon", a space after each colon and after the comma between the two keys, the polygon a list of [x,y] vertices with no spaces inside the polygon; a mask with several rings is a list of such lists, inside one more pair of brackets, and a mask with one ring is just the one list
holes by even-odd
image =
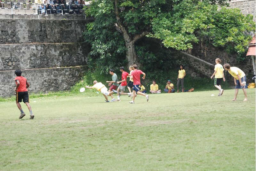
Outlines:
{"label": "barefoot player in yellow shirt and navy shorts, bending forward", "polygon": [[236,97],[237,97],[239,89],[243,89],[244,101],[247,101],[247,93],[246,93],[246,89],[245,89],[246,76],[245,76],[244,72],[237,67],[231,67],[229,64],[224,64],[223,67],[226,71],[228,71],[229,74],[231,74],[234,77],[236,90],[235,90],[235,97],[232,101],[236,101]]}

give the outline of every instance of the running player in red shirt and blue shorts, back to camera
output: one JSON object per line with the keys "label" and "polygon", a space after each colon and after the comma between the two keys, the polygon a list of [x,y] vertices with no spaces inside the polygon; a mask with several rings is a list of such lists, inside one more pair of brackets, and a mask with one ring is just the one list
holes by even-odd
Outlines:
{"label": "running player in red shirt and blue shorts, back to camera", "polygon": [[134,64],[133,65],[133,72],[131,74],[131,78],[133,79],[133,89],[132,89],[132,101],[130,101],[129,103],[134,103],[135,97],[136,97],[136,92],[137,94],[140,94],[141,96],[145,96],[148,102],[148,95],[143,94],[142,92],[140,92],[140,74],[143,74],[142,79],[144,80],[146,77],[146,74],[143,73],[141,70],[137,69],[137,65]]}

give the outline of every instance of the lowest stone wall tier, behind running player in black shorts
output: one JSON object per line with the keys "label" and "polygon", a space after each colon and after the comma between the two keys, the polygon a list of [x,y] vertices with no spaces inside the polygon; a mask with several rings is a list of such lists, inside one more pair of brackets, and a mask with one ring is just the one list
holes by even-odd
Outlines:
{"label": "lowest stone wall tier, behind running player in black shorts", "polygon": [[[84,75],[85,66],[22,70],[30,84],[29,93],[69,90]],[[0,71],[0,97],[14,96],[14,71]]]}

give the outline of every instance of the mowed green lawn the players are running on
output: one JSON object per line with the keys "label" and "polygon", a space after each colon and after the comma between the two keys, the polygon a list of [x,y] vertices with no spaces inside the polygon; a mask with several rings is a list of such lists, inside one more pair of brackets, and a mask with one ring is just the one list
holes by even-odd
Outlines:
{"label": "mowed green lawn the players are running on", "polygon": [[255,89],[234,92],[2,102],[0,170],[255,170]]}

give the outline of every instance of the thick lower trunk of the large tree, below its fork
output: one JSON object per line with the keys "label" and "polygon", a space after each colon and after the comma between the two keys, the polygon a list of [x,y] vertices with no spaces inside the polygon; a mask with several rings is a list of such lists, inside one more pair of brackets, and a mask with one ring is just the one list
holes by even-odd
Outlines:
{"label": "thick lower trunk of the large tree, below its fork", "polygon": [[135,51],[134,43],[125,41],[126,47],[126,59],[128,60],[128,65],[137,64],[138,65],[138,58]]}

